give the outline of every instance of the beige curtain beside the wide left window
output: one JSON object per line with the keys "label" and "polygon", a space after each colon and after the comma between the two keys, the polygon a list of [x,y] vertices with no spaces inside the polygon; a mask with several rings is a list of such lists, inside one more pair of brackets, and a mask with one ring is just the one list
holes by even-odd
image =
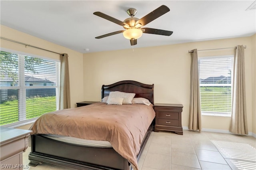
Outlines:
{"label": "beige curtain beside the wide left window", "polygon": [[69,109],[70,105],[70,83],[68,69],[68,54],[60,55],[60,103],[59,110]]}

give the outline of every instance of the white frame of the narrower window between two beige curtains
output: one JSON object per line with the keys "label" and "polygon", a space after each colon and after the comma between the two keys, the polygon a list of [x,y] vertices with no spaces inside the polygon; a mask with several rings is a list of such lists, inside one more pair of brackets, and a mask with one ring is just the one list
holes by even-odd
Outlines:
{"label": "white frame of the narrower window between two beige curtains", "polygon": [[[198,72],[199,72],[199,79],[200,79],[200,65],[199,65],[199,60],[200,59],[220,59],[220,58],[232,58],[232,65],[231,65],[231,73],[233,73],[234,69],[234,55],[214,55],[214,56],[198,56]],[[210,77],[210,76],[209,76]],[[200,82],[199,82],[200,83]],[[201,84],[199,84],[199,87],[201,87]],[[231,74],[231,109],[232,109],[232,91],[233,91],[233,74]],[[199,91],[200,93],[200,91]],[[200,93],[200,102],[201,102],[201,93]],[[202,105],[201,105],[202,106]],[[231,112],[217,112],[217,111],[202,111],[202,115],[207,115],[207,116],[220,116],[220,117],[231,117]]]}

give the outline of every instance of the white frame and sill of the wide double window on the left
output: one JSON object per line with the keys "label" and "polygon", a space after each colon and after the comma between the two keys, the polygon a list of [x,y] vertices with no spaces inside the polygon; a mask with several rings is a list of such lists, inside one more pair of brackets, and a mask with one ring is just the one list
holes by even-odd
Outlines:
{"label": "white frame and sill of the wide double window on the left", "polygon": [[[18,89],[19,90],[19,109],[21,111],[19,111],[18,116],[19,116],[19,120],[17,122],[14,123],[9,123],[6,125],[1,125],[2,127],[12,127],[12,128],[16,128],[16,127],[20,127],[20,126],[24,126],[24,125],[28,125],[31,123],[34,123],[34,121],[36,121],[36,119],[38,117],[34,117],[31,119],[26,119],[26,108],[20,107],[20,106],[26,106],[26,89],[40,89],[40,88],[56,88],[56,110],[59,109],[59,93],[60,93],[60,59],[52,59],[49,57],[44,57],[44,56],[40,56],[40,55],[34,55],[34,54],[30,54],[30,53],[25,53],[22,51],[16,51],[16,50],[12,50],[12,49],[6,49],[6,48],[2,48],[1,47],[1,51],[6,51],[9,53],[15,53],[18,55],[18,85],[17,86],[10,86],[10,87],[0,87],[1,89]],[[20,57],[19,55],[23,55],[23,57]],[[40,59],[45,59],[45,60],[49,60],[49,61],[54,61],[56,62],[56,86],[26,86],[25,80],[24,80],[24,56],[29,56],[29,57],[36,57],[36,58],[40,58]],[[23,72],[22,72],[23,69]],[[23,82],[23,83],[21,83]],[[23,84],[23,85],[21,85]],[[24,95],[25,94],[25,95]],[[24,111],[25,110],[25,111]],[[23,113],[23,114],[22,114]],[[24,116],[25,115],[25,116]],[[22,118],[22,117],[25,117]]]}

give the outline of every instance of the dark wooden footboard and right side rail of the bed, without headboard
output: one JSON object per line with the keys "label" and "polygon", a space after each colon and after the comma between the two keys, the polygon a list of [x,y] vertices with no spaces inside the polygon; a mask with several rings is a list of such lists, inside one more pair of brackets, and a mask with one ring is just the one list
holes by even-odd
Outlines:
{"label": "dark wooden footboard and right side rail of the bed, without headboard", "polygon": [[[150,133],[154,130],[154,121],[148,128],[137,161],[148,141]],[[74,169],[87,170],[131,170],[128,160],[118,154],[113,148],[99,148],[70,144],[46,138],[40,134],[31,136],[31,152],[28,155],[30,166],[42,164],[42,162],[56,164]]]}

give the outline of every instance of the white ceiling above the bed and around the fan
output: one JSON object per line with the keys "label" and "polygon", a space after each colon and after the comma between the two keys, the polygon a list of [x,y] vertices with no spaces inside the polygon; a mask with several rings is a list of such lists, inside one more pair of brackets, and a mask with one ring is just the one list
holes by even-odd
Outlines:
{"label": "white ceiling above the bed and around the fan", "polygon": [[[129,18],[136,8],[142,18],[161,5],[170,8],[145,27],[169,30],[171,36],[143,34],[137,47],[251,36],[256,33],[256,10],[246,10],[254,0],[1,0],[1,25],[68,47],[81,53],[130,49],[122,34],[97,36],[124,30],[93,14],[99,11],[118,20]],[[8,37],[4,37],[8,38]],[[34,45],[34,44],[30,44]],[[89,49],[89,51],[86,51]],[[58,52],[58,51],[56,51]]]}

